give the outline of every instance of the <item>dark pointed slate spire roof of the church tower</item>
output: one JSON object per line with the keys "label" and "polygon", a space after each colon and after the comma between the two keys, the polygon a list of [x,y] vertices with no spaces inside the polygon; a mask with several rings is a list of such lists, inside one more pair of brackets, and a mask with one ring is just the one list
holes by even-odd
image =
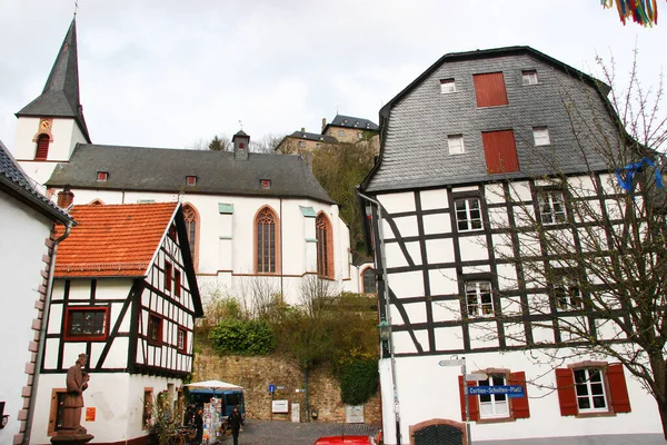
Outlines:
{"label": "dark pointed slate spire roof of the church tower", "polygon": [[17,116],[74,118],[86,140],[90,142],[79,101],[78,63],[77,23],[72,20],[42,93],[17,112]]}

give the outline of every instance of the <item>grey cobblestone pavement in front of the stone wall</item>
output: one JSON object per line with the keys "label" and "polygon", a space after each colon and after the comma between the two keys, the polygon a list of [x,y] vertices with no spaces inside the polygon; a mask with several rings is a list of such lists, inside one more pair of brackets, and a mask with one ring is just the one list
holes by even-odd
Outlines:
{"label": "grey cobblestone pavement in front of the stone wall", "polygon": [[[291,423],[248,419],[239,435],[239,445],[312,445],[318,437],[345,433],[351,436],[375,436],[379,426],[364,424],[329,424],[322,422]],[[221,442],[231,445],[231,436]]]}

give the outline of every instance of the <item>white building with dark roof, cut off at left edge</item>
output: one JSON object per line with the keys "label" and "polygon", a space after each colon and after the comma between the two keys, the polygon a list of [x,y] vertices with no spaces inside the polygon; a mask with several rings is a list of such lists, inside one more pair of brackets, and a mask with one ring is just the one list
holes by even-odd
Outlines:
{"label": "white building with dark roof, cut off at left edge", "polygon": [[[44,191],[0,141],[0,444],[21,444],[24,438],[57,246],[74,225]],[[52,236],[54,226],[62,228],[59,236]]]}

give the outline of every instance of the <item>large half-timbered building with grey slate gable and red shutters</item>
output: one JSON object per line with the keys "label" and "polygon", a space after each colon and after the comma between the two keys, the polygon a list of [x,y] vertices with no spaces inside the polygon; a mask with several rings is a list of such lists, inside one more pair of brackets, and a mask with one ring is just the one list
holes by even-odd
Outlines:
{"label": "large half-timbered building with grey slate gable and red shutters", "polygon": [[[548,245],[530,244],[522,216],[574,237],[590,227],[550,178],[581,185],[589,194],[581,199],[598,209],[615,206],[610,168],[618,166],[590,148],[619,135],[606,88],[529,47],[510,47],[446,55],[381,109],[380,160],[359,196],[385,273],[386,444],[460,444],[466,397],[474,443],[664,443],[656,402],[627,368],[609,356],[569,354],[558,319],[596,323],[577,287],[536,285],[521,263],[530,250],[547,270],[567,265],[546,259]],[[535,301],[545,309],[532,312]],[[514,385],[527,396],[465,396],[456,362],[464,358],[476,374],[468,386]]]}

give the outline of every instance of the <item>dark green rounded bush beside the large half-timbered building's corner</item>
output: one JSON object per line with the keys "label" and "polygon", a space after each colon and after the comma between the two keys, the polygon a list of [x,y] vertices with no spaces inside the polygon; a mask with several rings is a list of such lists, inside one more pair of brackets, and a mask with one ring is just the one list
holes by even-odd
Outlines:
{"label": "dark green rounded bush beside the large half-timbered building's corner", "polygon": [[340,364],[340,400],[348,405],[362,405],[378,390],[378,362],[352,358]]}

